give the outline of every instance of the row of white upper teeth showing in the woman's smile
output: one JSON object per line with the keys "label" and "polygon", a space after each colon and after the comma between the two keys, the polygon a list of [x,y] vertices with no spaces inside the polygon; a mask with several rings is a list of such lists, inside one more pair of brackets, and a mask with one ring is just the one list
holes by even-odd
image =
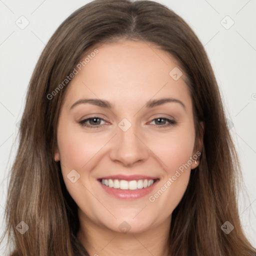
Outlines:
{"label": "row of white upper teeth showing in the woman's smile", "polygon": [[118,180],[114,179],[112,180],[111,178],[109,179],[102,179],[101,183],[103,185],[106,185],[108,187],[113,187],[113,188],[120,188],[120,189],[130,189],[130,190],[135,190],[135,189],[140,189],[140,188],[145,188],[153,184],[153,179],[139,179],[139,180]]}

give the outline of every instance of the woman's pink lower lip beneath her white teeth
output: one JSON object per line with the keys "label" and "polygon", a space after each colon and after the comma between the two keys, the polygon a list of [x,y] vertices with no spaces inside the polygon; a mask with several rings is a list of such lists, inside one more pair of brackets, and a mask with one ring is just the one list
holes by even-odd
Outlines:
{"label": "woman's pink lower lip beneath her white teeth", "polygon": [[109,187],[106,185],[103,185],[100,182],[102,188],[110,195],[118,198],[118,199],[127,199],[127,200],[133,200],[133,199],[138,199],[140,197],[145,196],[146,194],[150,193],[154,187],[155,184],[158,182],[159,180],[157,179],[152,185],[145,187],[145,188],[139,188],[139,189],[135,189],[135,190],[128,190],[128,189],[120,189],[120,188],[113,188],[113,187]]}

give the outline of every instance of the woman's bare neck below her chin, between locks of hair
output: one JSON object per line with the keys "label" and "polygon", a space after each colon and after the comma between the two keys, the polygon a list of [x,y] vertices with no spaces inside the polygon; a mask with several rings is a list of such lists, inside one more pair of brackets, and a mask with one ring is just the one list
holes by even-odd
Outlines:
{"label": "woman's bare neck below her chin, between locks of hair", "polygon": [[139,233],[115,232],[79,218],[77,238],[90,256],[168,256],[170,217],[164,223]]}

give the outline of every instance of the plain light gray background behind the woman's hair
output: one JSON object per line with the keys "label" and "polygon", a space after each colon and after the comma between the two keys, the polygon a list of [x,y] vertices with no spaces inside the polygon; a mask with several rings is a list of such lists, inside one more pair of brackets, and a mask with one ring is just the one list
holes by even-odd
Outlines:
{"label": "plain light gray background behind the woman's hair", "polygon": [[[32,70],[59,24],[87,2],[0,0],[0,223],[5,205],[6,175],[17,148],[17,143],[14,143],[18,130],[16,123],[21,118]],[[157,2],[184,18],[205,46],[227,117],[233,123],[232,126],[230,122],[230,131],[239,153],[246,187],[240,192],[239,212],[244,230],[256,247],[256,0]],[[21,15],[29,21],[24,29],[15,23],[25,23]],[[234,24],[228,28],[232,20]],[[2,229],[3,225],[0,226]],[[5,245],[6,241],[0,244],[0,255],[4,254]]]}

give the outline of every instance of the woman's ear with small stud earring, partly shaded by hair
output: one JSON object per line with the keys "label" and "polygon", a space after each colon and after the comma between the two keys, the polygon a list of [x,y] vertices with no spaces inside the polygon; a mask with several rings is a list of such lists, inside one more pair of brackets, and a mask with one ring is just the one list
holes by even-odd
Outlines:
{"label": "woman's ear with small stud earring, partly shaded by hair", "polygon": [[[204,133],[204,122],[200,121],[199,122],[199,129],[197,133],[197,138],[194,143],[194,150],[193,150],[193,155],[192,155],[192,163],[191,163],[191,169],[196,168],[199,165],[200,161],[200,155],[202,152],[202,147],[203,147],[203,133]],[[195,163],[196,161],[196,163]]]}

